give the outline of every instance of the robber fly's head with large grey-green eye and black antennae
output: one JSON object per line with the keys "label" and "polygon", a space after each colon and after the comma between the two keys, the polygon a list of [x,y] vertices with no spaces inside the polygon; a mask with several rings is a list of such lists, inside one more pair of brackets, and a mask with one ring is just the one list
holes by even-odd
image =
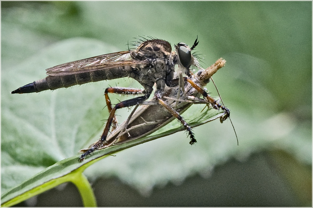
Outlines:
{"label": "robber fly's head with large grey-green eye and black antennae", "polygon": [[180,71],[184,72],[189,78],[191,78],[192,72],[190,67],[198,66],[198,61],[196,57],[194,57],[191,51],[198,45],[199,41],[198,37],[196,41],[193,43],[192,47],[190,48],[186,43],[180,42],[175,45],[176,50],[176,62]]}

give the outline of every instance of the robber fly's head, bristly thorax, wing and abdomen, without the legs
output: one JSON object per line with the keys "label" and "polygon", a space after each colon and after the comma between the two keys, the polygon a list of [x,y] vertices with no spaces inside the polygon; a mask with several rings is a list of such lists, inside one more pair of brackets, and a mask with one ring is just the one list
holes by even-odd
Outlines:
{"label": "robber fly's head, bristly thorax, wing and abdomen, without the legs", "polygon": [[175,65],[190,74],[190,67],[197,67],[197,60],[191,51],[198,45],[198,38],[191,48],[185,43],[175,45],[160,39],[144,39],[132,44],[135,50],[109,53],[74,62],[60,64],[46,69],[48,77],[29,83],[13,92],[32,93],[55,90],[88,82],[131,77],[144,87],[145,98],[149,97],[156,83],[157,90],[170,86],[174,78]]}

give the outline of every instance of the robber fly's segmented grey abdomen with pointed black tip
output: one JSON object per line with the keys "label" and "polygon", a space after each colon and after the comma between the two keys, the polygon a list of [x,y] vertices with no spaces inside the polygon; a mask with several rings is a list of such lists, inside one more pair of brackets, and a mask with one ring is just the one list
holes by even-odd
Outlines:
{"label": "robber fly's segmented grey abdomen with pointed black tip", "polygon": [[12,94],[41,92],[44,90],[55,90],[62,87],[71,87],[81,85],[88,82],[98,82],[101,80],[111,80],[128,76],[128,67],[115,67],[105,70],[97,70],[93,72],[83,72],[78,74],[63,75],[63,76],[48,76],[44,79],[37,80],[20,87]]}

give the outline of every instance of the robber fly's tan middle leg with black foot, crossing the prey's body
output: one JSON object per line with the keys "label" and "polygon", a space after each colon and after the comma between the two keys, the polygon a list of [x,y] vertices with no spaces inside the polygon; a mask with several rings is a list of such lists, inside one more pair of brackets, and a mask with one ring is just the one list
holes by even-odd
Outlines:
{"label": "robber fly's tan middle leg with black foot, crossing the prey's body", "polygon": [[197,140],[195,139],[193,132],[191,131],[191,126],[189,126],[187,124],[187,122],[182,118],[181,115],[179,115],[179,113],[177,111],[175,111],[171,106],[169,106],[166,102],[164,102],[162,100],[162,96],[159,92],[155,93],[155,98],[156,100],[162,105],[164,106],[173,116],[175,116],[178,121],[180,121],[182,123],[182,125],[184,126],[185,130],[188,131],[188,134],[190,136],[190,142],[189,144],[193,145],[194,143],[197,142]]}

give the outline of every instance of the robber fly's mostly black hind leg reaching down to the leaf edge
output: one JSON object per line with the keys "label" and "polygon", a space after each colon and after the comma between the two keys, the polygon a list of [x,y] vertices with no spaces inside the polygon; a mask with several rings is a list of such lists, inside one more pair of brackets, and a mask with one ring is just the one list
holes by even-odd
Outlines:
{"label": "robber fly's mostly black hind leg reaching down to the leaf edge", "polygon": [[[117,89],[117,88],[116,88]],[[118,90],[122,90],[121,88],[118,88]],[[126,89],[127,90],[127,89]],[[121,93],[123,94],[123,93]],[[120,103],[117,103],[114,108],[112,108],[111,112],[110,112],[110,116],[108,118],[108,121],[106,122],[105,125],[105,129],[103,131],[103,134],[100,138],[99,141],[95,142],[92,146],[90,146],[88,148],[88,150],[83,150],[84,153],[80,156],[79,161],[83,161],[85,159],[85,157],[87,155],[90,155],[92,152],[98,150],[100,147],[102,147],[105,143],[107,143],[106,141],[106,137],[108,136],[111,124],[113,122],[114,116],[115,116],[115,111],[119,108],[123,108],[123,107],[130,107],[130,106],[134,106],[134,105],[138,105],[141,104],[142,102],[144,102],[146,99],[148,99],[150,97],[151,93],[146,93],[144,96],[141,97],[135,97],[126,101],[122,101]]]}

